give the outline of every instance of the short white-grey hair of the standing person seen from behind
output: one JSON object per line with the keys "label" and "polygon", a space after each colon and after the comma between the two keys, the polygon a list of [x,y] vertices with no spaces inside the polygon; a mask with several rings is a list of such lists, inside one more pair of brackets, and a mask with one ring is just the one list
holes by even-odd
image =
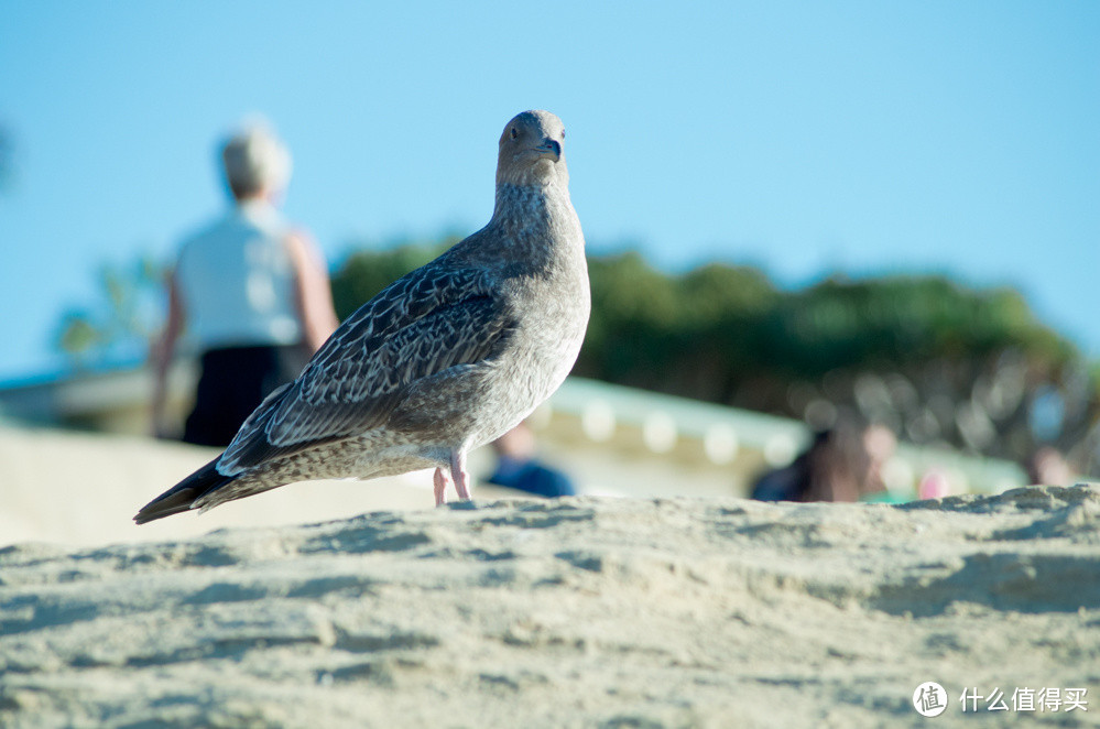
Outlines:
{"label": "short white-grey hair of the standing person seen from behind", "polygon": [[291,152],[263,120],[252,120],[230,137],[221,161],[237,198],[282,192],[291,181]]}

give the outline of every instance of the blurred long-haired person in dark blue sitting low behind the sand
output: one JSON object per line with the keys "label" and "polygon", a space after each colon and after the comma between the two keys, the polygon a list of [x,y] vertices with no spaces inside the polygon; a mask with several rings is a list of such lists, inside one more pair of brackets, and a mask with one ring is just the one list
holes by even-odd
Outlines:
{"label": "blurred long-haired person in dark blue sitting low behind the sand", "polygon": [[[881,466],[894,439],[882,426],[859,431],[840,424],[814,435],[789,466],[762,475],[753,485],[758,501],[860,501],[885,493]],[[886,431],[889,433],[889,431]]]}

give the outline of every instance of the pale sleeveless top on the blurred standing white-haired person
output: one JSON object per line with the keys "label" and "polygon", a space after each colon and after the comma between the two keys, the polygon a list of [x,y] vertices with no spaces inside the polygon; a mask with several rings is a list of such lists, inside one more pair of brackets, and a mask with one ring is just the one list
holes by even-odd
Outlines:
{"label": "pale sleeveless top on the blurred standing white-haired person", "polygon": [[288,232],[275,208],[250,200],[184,241],[176,284],[200,350],[302,341]]}

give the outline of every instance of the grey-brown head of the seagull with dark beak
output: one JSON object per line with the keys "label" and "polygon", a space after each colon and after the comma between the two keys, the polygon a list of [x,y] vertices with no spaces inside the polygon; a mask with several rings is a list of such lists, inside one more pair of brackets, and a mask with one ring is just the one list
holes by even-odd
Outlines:
{"label": "grey-brown head of the seagull with dark beak", "polygon": [[511,185],[568,184],[565,126],[549,111],[516,115],[500,135],[497,182]]}

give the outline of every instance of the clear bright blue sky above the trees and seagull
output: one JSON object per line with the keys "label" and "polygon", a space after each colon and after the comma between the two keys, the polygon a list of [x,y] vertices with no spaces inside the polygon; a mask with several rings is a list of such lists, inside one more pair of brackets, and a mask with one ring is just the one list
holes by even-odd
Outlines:
{"label": "clear bright blue sky above the trees and seagull", "polygon": [[99,264],[222,209],[253,112],[330,262],[483,225],[500,130],[545,108],[597,252],[1012,285],[1100,356],[1100,3],[28,0],[0,37],[0,379],[56,363]]}

